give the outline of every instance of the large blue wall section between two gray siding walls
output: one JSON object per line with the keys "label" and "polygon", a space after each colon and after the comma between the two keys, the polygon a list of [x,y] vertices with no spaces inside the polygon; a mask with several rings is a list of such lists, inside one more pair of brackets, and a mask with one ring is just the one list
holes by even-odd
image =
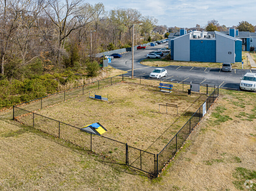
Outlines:
{"label": "large blue wall section between two gray siding walls", "polygon": [[216,40],[190,40],[190,61],[216,62]]}

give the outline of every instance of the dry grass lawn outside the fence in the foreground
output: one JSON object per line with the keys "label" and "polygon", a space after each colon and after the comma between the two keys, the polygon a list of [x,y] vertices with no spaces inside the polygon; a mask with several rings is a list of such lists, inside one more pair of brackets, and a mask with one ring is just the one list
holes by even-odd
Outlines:
{"label": "dry grass lawn outside the fence in the foreground", "polygon": [[153,180],[62,139],[0,119],[0,190],[256,190],[252,100],[255,93],[220,90],[175,159]]}

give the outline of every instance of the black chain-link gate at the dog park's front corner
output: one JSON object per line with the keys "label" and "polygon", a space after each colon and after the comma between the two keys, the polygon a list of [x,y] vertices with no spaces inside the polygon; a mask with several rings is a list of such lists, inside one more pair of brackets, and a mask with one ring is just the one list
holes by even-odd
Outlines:
{"label": "black chain-link gate at the dog park's front corner", "polygon": [[152,175],[156,175],[156,155],[127,146],[127,165],[143,172],[147,172]]}

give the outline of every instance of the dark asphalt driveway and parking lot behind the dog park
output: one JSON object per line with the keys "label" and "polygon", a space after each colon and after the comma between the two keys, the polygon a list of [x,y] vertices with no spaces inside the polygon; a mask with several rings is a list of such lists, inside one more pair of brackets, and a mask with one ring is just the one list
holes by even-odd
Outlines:
{"label": "dark asphalt driveway and parking lot behind the dog park", "polygon": [[[144,50],[136,50],[134,48],[134,75],[142,76],[145,78],[149,77],[149,74],[155,68],[142,65],[140,62],[145,57],[146,54],[152,51],[157,51],[159,48],[168,47],[168,43],[163,43],[157,46],[147,46]],[[166,55],[167,53],[164,53]],[[131,52],[126,52],[122,54],[121,58],[114,58],[110,66],[113,68],[127,71],[127,75],[131,75]],[[232,69],[231,72],[221,71],[220,68],[205,68],[205,67],[191,67],[191,66],[166,66],[161,67],[167,70],[167,76],[161,77],[161,80],[172,80],[178,82],[190,82],[201,83],[208,85],[216,85],[221,88],[235,89],[239,90],[240,78],[244,76],[246,72],[256,73],[256,70],[242,70],[242,69]]]}

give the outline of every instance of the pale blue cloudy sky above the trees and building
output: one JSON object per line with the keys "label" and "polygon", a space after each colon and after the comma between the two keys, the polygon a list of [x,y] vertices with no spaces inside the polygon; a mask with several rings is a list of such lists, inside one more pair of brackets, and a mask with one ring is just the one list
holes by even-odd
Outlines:
{"label": "pale blue cloudy sky above the trees and building", "polygon": [[114,7],[133,8],[143,16],[154,16],[158,25],[168,27],[204,26],[216,19],[220,25],[232,27],[246,20],[256,25],[255,0],[91,0],[90,4],[103,3],[105,10]]}

